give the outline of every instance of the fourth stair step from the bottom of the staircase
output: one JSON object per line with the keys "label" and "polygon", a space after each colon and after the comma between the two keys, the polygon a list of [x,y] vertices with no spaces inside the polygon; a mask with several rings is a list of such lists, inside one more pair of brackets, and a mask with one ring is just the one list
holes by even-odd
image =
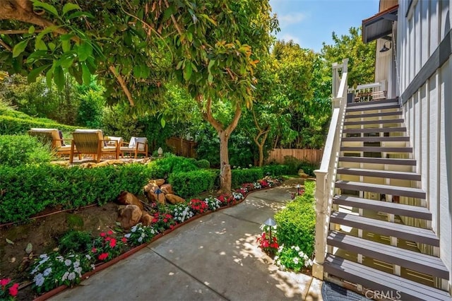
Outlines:
{"label": "fourth stair step from the bottom of the staircase", "polygon": [[403,203],[391,203],[388,201],[375,201],[362,199],[355,196],[334,196],[333,203],[354,208],[362,208],[372,211],[381,211],[396,214],[397,216],[408,216],[410,218],[422,218],[432,220],[432,213],[429,209],[420,206],[410,206]]}

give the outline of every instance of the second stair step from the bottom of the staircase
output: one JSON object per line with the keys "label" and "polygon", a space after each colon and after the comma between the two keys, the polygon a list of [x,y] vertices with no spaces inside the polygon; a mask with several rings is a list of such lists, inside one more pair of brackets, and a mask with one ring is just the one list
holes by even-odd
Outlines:
{"label": "second stair step from the bottom of the staircase", "polygon": [[388,244],[380,244],[371,240],[332,231],[328,234],[328,245],[347,251],[362,254],[373,259],[397,264],[413,271],[420,271],[435,277],[447,279],[449,271],[439,257],[401,249]]}

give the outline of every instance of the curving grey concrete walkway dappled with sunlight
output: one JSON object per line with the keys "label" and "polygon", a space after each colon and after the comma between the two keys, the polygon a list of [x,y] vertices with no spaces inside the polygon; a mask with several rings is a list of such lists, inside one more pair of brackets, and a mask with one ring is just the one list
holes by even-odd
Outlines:
{"label": "curving grey concrete walkway dappled with sunlight", "polygon": [[256,243],[295,184],[198,218],[52,300],[321,300],[321,281],[278,271]]}

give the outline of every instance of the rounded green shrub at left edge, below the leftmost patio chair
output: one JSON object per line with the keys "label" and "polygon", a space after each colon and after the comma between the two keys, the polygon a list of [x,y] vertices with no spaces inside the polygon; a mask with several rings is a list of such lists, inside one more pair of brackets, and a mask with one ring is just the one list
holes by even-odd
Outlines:
{"label": "rounded green shrub at left edge, below the leftmost patio chair", "polygon": [[0,135],[0,165],[19,166],[48,163],[53,156],[49,146],[44,146],[29,135]]}

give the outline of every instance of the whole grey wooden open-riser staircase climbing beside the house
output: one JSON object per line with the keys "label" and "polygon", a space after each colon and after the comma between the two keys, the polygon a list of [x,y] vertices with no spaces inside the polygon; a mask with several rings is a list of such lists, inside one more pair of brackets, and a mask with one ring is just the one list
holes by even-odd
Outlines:
{"label": "whole grey wooden open-riser staircase climbing beside the house", "polygon": [[[323,263],[327,278],[401,300],[451,300],[438,288],[447,283],[448,268],[420,252],[428,245],[437,253],[439,239],[429,228],[432,213],[414,206],[425,204],[426,192],[398,100],[350,103],[345,112],[335,182],[340,194],[333,198]],[[421,221],[405,225],[404,218]]]}

